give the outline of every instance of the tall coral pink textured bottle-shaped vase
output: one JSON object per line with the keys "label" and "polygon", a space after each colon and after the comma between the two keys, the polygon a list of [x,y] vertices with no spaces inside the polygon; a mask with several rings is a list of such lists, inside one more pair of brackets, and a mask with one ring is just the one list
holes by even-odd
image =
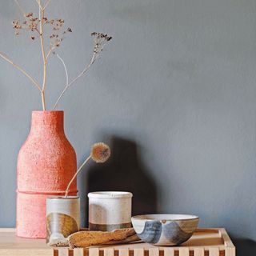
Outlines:
{"label": "tall coral pink textured bottle-shaped vase", "polygon": [[[46,238],[46,198],[65,194],[77,169],[63,128],[63,111],[32,112],[31,130],[18,154],[16,233]],[[77,194],[77,184],[70,187]]]}

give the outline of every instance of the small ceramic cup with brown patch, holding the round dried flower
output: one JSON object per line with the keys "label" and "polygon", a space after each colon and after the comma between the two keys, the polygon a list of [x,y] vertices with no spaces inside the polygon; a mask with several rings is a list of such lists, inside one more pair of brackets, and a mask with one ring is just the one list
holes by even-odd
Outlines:
{"label": "small ceramic cup with brown patch, holding the round dried flower", "polygon": [[62,245],[70,234],[80,229],[80,198],[75,196],[46,199],[46,242]]}

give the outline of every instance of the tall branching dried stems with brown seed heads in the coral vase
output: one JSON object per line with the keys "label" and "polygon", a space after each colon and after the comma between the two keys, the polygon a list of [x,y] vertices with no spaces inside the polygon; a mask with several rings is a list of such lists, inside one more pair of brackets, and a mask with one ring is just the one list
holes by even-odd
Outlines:
{"label": "tall branching dried stems with brown seed heads in the coral vase", "polygon": [[[42,78],[42,84],[40,84],[38,81],[36,81],[35,78],[33,78],[26,70],[24,70],[21,66],[15,64],[6,54],[3,54],[0,52],[0,57],[2,57],[6,62],[9,62],[12,66],[14,66],[16,69],[20,70],[23,74],[26,75],[27,78],[30,79],[30,82],[41,93],[42,98],[42,110],[46,110],[46,99],[45,99],[45,92],[46,92],[46,78],[47,78],[47,67],[48,67],[48,61],[50,54],[55,54],[54,50],[61,46],[62,41],[64,40],[66,34],[69,34],[72,32],[72,29],[70,27],[65,27],[65,21],[62,18],[55,18],[50,19],[46,18],[45,12],[46,7],[49,6],[51,0],[46,0],[45,4],[42,3],[42,0],[35,0],[38,4],[38,17],[34,16],[32,12],[26,13],[18,0],[14,0],[16,4],[18,5],[19,10],[21,10],[23,14],[23,21],[14,20],[13,21],[13,28],[15,30],[15,34],[19,35],[21,34],[22,30],[26,30],[30,33],[30,39],[32,41],[37,41],[36,39],[39,39],[41,45],[41,51],[42,51],[42,71],[43,71],[43,78]],[[45,34],[45,28],[48,27],[48,30],[50,30],[50,35],[48,37],[49,40],[49,46],[48,50],[46,50],[46,34]],[[77,77],[69,81],[68,72],[66,69],[66,64],[64,60],[59,56],[59,54],[56,54],[56,56],[59,58],[59,60],[62,62],[62,65],[64,66],[65,72],[66,72],[66,86],[62,90],[62,93],[59,95],[57,101],[54,104],[53,110],[57,107],[58,102],[62,98],[63,94],[66,93],[66,90],[70,88],[70,86],[74,85],[74,82],[78,80],[78,78],[82,77],[83,74],[86,73],[87,70],[90,69],[90,66],[94,64],[94,62],[99,58],[99,55],[101,54],[103,47],[106,45],[106,42],[109,42],[111,40],[111,37],[107,34],[102,33],[92,33],[91,36],[94,38],[94,50],[92,57],[90,58],[90,62],[86,67],[78,74]]]}

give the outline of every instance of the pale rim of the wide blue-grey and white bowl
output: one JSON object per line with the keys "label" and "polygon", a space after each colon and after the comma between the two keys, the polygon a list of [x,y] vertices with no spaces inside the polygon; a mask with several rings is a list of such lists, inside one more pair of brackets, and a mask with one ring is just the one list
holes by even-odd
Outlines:
{"label": "pale rim of the wide blue-grey and white bowl", "polygon": [[[169,216],[184,216],[186,218],[164,218],[164,216],[169,215]],[[145,217],[149,218],[145,218]],[[158,216],[159,218],[150,218],[153,216]],[[162,216],[162,218],[161,218]],[[131,218],[131,220],[136,219],[136,220],[141,220],[141,221],[190,221],[190,220],[195,220],[199,219],[197,215],[193,214],[142,214],[142,215],[135,215]]]}

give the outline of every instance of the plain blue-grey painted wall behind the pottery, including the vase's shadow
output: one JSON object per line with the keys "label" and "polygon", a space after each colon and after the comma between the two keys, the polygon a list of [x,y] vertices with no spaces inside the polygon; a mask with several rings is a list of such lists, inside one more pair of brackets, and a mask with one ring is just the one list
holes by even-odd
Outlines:
{"label": "plain blue-grey painted wall behind the pottery, including the vase's shadow", "polygon": [[[21,0],[37,11],[34,1]],[[0,2],[0,50],[38,79],[38,42],[14,36],[21,18]],[[89,62],[90,32],[114,37],[102,58],[63,98],[66,135],[78,164],[93,142],[109,142],[112,160],[91,163],[79,190],[134,193],[134,213],[198,214],[223,226],[238,254],[256,251],[256,2],[254,0],[54,0],[49,17],[72,27],[58,50],[70,78]],[[50,59],[47,106],[65,74]],[[0,226],[15,225],[16,160],[41,110],[30,82],[0,60]],[[87,168],[88,169],[88,168]],[[82,203],[83,223],[86,200]]]}

